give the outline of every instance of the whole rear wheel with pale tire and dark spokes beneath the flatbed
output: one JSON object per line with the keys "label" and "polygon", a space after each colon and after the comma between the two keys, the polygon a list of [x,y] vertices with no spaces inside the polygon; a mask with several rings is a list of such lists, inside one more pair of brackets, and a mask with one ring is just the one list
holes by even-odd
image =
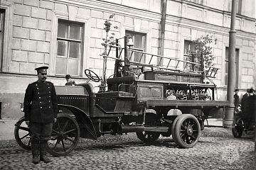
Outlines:
{"label": "whole rear wheel with pale tire and dark spokes beneath the flatbed", "polygon": [[196,145],[200,137],[200,124],[191,114],[183,114],[174,125],[174,139],[178,146],[189,148]]}

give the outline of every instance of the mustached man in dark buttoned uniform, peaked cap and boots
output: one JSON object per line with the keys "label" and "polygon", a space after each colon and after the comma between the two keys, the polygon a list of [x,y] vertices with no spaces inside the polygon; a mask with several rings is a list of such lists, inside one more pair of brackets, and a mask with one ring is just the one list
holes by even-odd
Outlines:
{"label": "mustached man in dark buttoned uniform, peaked cap and boots", "polygon": [[33,164],[40,160],[48,163],[46,145],[50,138],[53,122],[57,121],[58,103],[53,84],[47,79],[48,67],[36,68],[38,81],[29,84],[24,98],[26,124],[31,130]]}

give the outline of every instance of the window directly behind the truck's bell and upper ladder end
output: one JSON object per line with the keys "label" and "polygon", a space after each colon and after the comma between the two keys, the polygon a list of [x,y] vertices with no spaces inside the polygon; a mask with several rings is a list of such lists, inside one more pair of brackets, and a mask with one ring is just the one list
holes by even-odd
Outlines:
{"label": "window directly behind the truck's bell and upper ladder end", "polygon": [[[126,30],[125,31],[125,35],[129,35],[132,37],[132,41],[134,42],[134,46],[132,48],[135,48],[135,50],[139,50],[139,51],[146,51],[146,34],[145,33],[137,33],[134,31],[130,31],[130,30]],[[134,62],[139,62],[140,57],[141,57],[141,53],[139,52],[134,52],[134,54],[132,55],[132,61]],[[142,59],[142,62],[145,59]]]}

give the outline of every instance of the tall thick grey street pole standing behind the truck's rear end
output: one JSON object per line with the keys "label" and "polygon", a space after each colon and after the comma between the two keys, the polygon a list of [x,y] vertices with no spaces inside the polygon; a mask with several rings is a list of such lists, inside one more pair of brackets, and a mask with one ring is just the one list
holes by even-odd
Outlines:
{"label": "tall thick grey street pole standing behind the truck's rear end", "polygon": [[232,0],[229,52],[228,52],[228,90],[227,100],[229,106],[225,108],[224,128],[231,128],[234,120],[234,89],[235,89],[235,16],[237,0]]}

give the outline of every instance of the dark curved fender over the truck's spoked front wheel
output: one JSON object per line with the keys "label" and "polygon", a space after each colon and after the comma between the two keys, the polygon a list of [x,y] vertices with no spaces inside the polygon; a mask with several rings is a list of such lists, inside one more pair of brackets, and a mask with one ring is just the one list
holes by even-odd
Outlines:
{"label": "dark curved fender over the truck's spoked front wheel", "polygon": [[80,108],[70,105],[58,104],[58,108],[66,108],[75,115],[75,120],[80,127],[80,136],[83,138],[97,139],[96,130],[89,116]]}

